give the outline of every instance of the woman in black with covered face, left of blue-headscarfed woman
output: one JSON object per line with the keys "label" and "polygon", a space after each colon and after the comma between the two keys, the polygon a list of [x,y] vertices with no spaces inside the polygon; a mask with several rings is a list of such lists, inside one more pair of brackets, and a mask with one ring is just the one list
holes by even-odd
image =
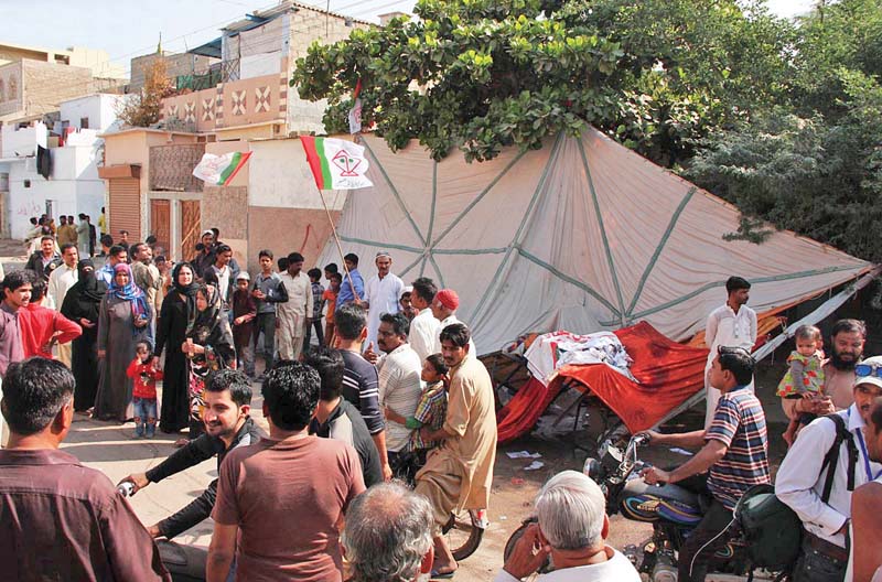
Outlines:
{"label": "woman in black with covered face, left of blue-headscarfed woman", "polygon": [[76,379],[74,410],[85,412],[95,406],[98,389],[98,315],[107,285],[95,277],[92,259],[77,263],[79,280],[64,295],[62,315],[83,327],[83,335],[74,340],[71,369]]}

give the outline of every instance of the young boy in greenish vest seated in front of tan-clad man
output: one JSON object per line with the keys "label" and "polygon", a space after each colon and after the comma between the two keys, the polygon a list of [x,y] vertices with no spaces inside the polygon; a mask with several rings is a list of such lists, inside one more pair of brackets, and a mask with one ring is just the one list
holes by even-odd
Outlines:
{"label": "young boy in greenish vest seated in front of tan-clad man", "polygon": [[386,418],[392,422],[404,424],[411,430],[410,439],[405,446],[406,461],[398,470],[401,478],[412,481],[422,465],[426,464],[426,455],[441,444],[440,441],[423,441],[420,430],[423,427],[437,431],[444,425],[448,416],[448,392],[447,382],[449,368],[444,364],[441,354],[432,354],[422,363],[422,375],[420,378],[426,382],[426,388],[420,395],[420,401],[412,417],[402,417],[395,410],[387,408]]}

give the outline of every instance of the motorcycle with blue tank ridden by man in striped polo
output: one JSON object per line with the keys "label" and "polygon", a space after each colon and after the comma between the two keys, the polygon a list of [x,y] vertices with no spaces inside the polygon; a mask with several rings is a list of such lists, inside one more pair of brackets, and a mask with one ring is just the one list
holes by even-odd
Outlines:
{"label": "motorcycle with blue tank ridden by man in striped polo", "polygon": [[[600,485],[606,497],[606,515],[621,514],[625,519],[653,525],[653,535],[638,546],[622,551],[641,574],[650,582],[676,582],[677,556],[684,541],[701,521],[707,506],[703,498],[684,487],[664,484],[649,485],[639,477],[649,465],[639,461],[637,449],[649,443],[646,434],[632,436],[622,450],[612,441],[599,449],[599,460],[589,457],[582,472]],[[512,553],[530,517],[512,535],[505,546],[505,559]],[[738,527],[730,527],[728,543],[717,551],[708,571],[708,580],[774,580],[781,582],[787,572],[754,572],[747,557],[747,540]],[[553,570],[547,561],[539,573]]]}

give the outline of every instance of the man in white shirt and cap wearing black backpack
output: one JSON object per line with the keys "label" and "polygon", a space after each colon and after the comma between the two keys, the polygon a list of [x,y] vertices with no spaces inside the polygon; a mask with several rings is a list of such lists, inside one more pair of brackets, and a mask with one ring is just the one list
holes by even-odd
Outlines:
{"label": "man in white shirt and cap wearing black backpack", "polygon": [[863,427],[882,396],[882,356],[854,366],[854,403],[814,420],[784,457],[775,493],[803,521],[803,551],[794,582],[841,582],[852,492],[882,475],[867,453]]}

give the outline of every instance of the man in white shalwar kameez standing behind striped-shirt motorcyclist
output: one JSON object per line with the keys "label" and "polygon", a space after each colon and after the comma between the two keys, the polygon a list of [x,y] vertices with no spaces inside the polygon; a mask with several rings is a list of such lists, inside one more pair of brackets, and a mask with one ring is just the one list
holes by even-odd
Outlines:
{"label": "man in white shalwar kameez standing behind striped-shirt motorcyclist", "polygon": [[[756,343],[756,312],[746,303],[750,299],[751,283],[741,277],[730,277],[725,282],[729,293],[725,304],[713,310],[708,315],[704,327],[704,343],[710,348],[708,364],[704,366],[704,387],[707,389],[708,408],[704,412],[704,429],[710,427],[717,402],[720,400],[720,390],[710,385],[710,368],[720,346],[743,347],[750,354]],[[753,391],[753,380],[747,386]]]}

